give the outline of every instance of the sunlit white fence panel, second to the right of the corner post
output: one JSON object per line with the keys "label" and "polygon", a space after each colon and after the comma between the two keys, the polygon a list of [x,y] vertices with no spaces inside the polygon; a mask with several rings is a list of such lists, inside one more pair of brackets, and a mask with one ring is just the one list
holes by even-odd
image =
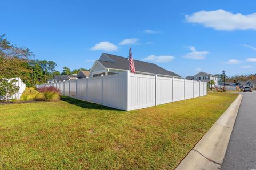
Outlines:
{"label": "sunlit white fence panel, second to the right of the corner post", "polygon": [[156,105],[172,102],[172,81],[172,78],[157,76]]}

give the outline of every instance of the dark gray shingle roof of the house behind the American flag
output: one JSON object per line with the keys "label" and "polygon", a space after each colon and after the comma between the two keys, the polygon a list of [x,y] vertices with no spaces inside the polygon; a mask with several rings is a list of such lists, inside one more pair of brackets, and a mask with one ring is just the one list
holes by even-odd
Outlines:
{"label": "dark gray shingle roof of the house behind the American flag", "polygon": [[[109,62],[109,61],[98,60],[104,67],[128,70],[129,62],[128,62],[127,58],[124,58],[122,56],[107,54],[107,53],[103,53],[103,54],[107,55],[110,59],[115,61],[115,62]],[[162,67],[159,67],[153,63],[134,60],[134,65],[135,65],[136,71],[138,71],[138,72],[147,72],[147,73],[151,73],[151,74],[181,77],[180,75],[176,74],[175,72],[167,71],[167,70],[163,69]]]}

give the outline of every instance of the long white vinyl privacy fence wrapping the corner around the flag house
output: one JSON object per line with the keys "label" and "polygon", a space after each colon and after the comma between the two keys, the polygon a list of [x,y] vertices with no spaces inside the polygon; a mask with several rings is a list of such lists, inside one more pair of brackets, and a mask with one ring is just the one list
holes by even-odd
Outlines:
{"label": "long white vinyl privacy fence wrapping the corner around the flag house", "polygon": [[58,83],[62,95],[121,110],[135,110],[207,95],[207,83],[125,72]]}

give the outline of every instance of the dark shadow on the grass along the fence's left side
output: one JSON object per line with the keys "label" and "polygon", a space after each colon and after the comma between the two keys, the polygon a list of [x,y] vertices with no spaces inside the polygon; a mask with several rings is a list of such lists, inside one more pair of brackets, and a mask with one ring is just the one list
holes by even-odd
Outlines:
{"label": "dark shadow on the grass along the fence's left side", "polygon": [[74,104],[74,105],[79,106],[81,108],[99,109],[99,110],[118,110],[118,109],[110,108],[110,107],[107,107],[107,106],[102,106],[100,104],[90,103],[90,102],[86,102],[86,101],[83,101],[83,100],[70,98],[70,97],[64,96],[64,95],[60,96],[60,100],[68,102],[69,104]]}

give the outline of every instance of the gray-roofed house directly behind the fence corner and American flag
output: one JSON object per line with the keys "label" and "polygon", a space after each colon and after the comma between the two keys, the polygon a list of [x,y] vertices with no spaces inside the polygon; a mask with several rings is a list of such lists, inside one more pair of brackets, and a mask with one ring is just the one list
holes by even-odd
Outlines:
{"label": "gray-roofed house directly behind the fence corner and American flag", "polygon": [[[172,71],[167,71],[162,67],[153,63],[134,60],[136,72],[147,75],[162,75],[181,78],[180,75]],[[96,60],[90,70],[89,77],[96,77],[101,75],[118,74],[129,70],[129,60],[122,56],[102,53],[99,60]]]}

